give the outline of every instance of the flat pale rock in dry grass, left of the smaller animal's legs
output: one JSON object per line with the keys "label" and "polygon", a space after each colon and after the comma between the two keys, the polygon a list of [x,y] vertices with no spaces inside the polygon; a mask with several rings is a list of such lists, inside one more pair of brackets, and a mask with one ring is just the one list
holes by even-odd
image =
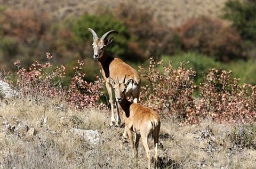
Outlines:
{"label": "flat pale rock in dry grass, left of the smaller animal's legs", "polygon": [[71,132],[82,136],[83,139],[87,140],[90,144],[97,144],[100,141],[100,135],[95,130],[84,130],[79,128],[71,129]]}

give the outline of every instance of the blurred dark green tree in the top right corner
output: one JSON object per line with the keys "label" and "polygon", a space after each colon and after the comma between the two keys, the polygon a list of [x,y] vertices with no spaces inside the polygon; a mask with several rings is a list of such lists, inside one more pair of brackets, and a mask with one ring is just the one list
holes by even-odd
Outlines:
{"label": "blurred dark green tree in the top right corner", "polygon": [[256,1],[229,0],[225,4],[224,18],[233,21],[238,33],[249,41],[256,40]]}

